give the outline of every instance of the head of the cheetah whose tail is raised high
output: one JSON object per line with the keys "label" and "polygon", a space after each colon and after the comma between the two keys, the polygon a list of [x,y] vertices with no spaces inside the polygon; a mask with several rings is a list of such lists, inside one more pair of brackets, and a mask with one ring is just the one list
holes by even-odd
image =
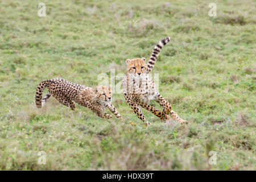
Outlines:
{"label": "head of the cheetah whose tail is raised high", "polygon": [[127,59],[127,73],[132,77],[142,77],[147,74],[146,58]]}

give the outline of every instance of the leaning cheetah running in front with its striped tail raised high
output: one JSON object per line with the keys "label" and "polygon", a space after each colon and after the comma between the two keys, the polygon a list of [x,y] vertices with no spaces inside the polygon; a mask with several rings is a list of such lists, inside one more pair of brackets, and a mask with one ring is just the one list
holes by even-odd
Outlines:
{"label": "leaning cheetah running in front with its striped tail raised high", "polygon": [[[170,42],[170,38],[163,39],[156,44],[148,63],[146,63],[146,59],[144,57],[141,59],[137,58],[126,60],[127,74],[123,76],[122,79],[123,94],[125,95],[126,102],[134,110],[134,113],[137,114],[137,117],[142,119],[147,126],[150,123],[146,121],[140,106],[148,111],[151,111],[151,113],[155,114],[162,121],[170,119],[168,114],[171,114],[171,117],[175,121],[179,123],[187,122],[181,119],[179,115],[172,110],[171,104],[164,100],[164,98],[158,92],[158,89],[156,89],[154,81],[148,75],[152,68],[154,68],[156,59],[159,56],[159,52],[168,42]],[[157,110],[150,106],[151,100],[155,100],[159,105],[163,106],[163,111]]]}

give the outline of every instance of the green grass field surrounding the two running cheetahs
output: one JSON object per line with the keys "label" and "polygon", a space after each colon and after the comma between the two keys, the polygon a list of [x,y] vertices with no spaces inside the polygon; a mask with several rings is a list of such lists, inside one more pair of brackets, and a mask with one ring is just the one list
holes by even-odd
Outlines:
{"label": "green grass field surrounding the two running cheetahs", "polygon": [[[255,1],[214,1],[216,17],[208,16],[212,1],[43,2],[44,18],[37,1],[0,2],[0,169],[256,169]],[[53,98],[36,109],[39,82],[97,85],[98,74],[125,73],[126,59],[148,59],[166,36],[153,73],[187,125],[143,110],[146,128],[122,93],[113,104],[125,121]]]}

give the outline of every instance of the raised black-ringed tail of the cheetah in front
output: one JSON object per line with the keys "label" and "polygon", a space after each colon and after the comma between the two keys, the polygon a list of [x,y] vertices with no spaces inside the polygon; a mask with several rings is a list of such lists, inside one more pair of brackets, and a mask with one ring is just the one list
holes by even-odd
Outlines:
{"label": "raised black-ringed tail of the cheetah in front", "polygon": [[158,44],[156,44],[154,50],[151,53],[150,60],[148,60],[147,63],[147,69],[148,73],[151,72],[151,70],[155,67],[156,59],[158,59],[159,53],[162,50],[162,48],[170,42],[170,38],[167,37],[163,40],[160,40]]}

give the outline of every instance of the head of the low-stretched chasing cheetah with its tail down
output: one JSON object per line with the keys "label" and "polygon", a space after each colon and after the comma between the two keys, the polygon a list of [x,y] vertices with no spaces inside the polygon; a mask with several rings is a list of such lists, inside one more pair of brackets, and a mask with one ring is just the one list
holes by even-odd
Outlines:
{"label": "head of the low-stretched chasing cheetah with its tail down", "polygon": [[112,90],[110,86],[96,86],[93,88],[93,92],[96,94],[96,100],[101,103],[110,103],[112,102]]}

